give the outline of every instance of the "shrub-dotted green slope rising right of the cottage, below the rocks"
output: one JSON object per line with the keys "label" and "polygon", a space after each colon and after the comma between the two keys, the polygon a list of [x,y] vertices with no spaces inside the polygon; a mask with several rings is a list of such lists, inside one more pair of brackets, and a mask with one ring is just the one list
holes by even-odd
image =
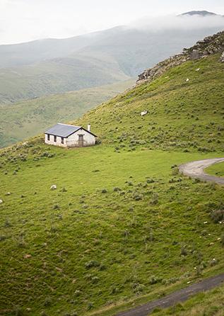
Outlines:
{"label": "shrub-dotted green slope rising right of the cottage, below the rocks", "polygon": [[[185,62],[93,109],[78,123],[92,123],[102,141],[115,143],[117,150],[143,145],[223,152],[224,64],[219,59]],[[145,110],[148,114],[141,117]]]}

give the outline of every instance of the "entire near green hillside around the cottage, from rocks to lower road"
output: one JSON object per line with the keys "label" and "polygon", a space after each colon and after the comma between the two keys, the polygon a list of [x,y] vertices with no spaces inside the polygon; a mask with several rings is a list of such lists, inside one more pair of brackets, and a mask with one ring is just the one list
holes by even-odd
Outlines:
{"label": "entire near green hillside around the cottage, from rocks to lower road", "polygon": [[223,271],[223,188],[177,170],[223,156],[219,57],[76,121],[101,145],[1,149],[1,314],[116,315]]}

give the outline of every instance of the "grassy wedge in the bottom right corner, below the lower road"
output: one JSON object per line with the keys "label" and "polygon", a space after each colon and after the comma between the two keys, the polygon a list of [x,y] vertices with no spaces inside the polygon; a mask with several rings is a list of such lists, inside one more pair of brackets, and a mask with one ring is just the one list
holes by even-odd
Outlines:
{"label": "grassy wedge in the bottom right corner, below the lower road", "polygon": [[154,316],[223,316],[224,286],[201,293],[184,304],[177,304],[167,310],[155,310]]}

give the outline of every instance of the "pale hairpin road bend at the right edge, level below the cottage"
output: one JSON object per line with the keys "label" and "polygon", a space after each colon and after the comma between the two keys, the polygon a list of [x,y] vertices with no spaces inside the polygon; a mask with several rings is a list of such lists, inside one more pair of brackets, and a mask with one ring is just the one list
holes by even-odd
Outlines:
{"label": "pale hairpin road bend at the right edge, level below the cottage", "polygon": [[224,178],[218,176],[210,176],[204,173],[204,169],[212,164],[218,164],[218,162],[224,162],[224,158],[204,159],[196,162],[187,162],[187,164],[181,164],[179,166],[179,172],[184,176],[190,176],[191,178],[200,179],[202,181],[215,182],[216,184],[224,184]]}

